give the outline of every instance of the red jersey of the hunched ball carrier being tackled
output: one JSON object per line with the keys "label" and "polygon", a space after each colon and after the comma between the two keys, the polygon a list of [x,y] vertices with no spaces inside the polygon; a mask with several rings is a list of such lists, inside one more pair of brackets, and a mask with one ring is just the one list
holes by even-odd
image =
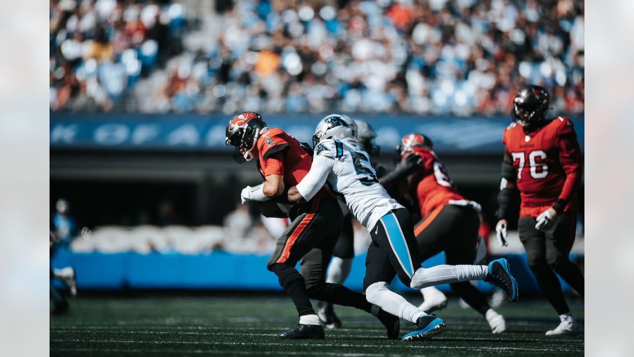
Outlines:
{"label": "red jersey of the hunched ball carrier being tackled", "polygon": [[[292,187],[304,179],[311,170],[313,158],[299,145],[296,138],[278,128],[264,131],[257,139],[257,169],[262,178],[268,175],[282,175],[284,187]],[[281,155],[280,155],[281,154]],[[330,195],[327,187],[322,187],[315,197]]]}

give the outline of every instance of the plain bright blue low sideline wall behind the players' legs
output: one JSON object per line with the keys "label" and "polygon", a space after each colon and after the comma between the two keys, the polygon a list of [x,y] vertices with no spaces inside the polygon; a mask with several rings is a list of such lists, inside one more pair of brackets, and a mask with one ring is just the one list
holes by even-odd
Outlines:
{"label": "plain bright blue low sideline wall behind the players' legs", "polygon": [[[509,254],[504,257],[510,263],[521,292],[538,293],[539,288],[527,265],[526,254]],[[491,257],[495,258],[497,257]],[[571,259],[574,258],[571,255]],[[74,267],[80,289],[281,290],[277,276],[266,269],[268,260],[269,255],[238,255],[223,251],[183,255],[73,253],[60,250],[51,258],[51,266]],[[425,260],[423,267],[438,264],[444,264],[444,253]],[[363,291],[364,276],[365,254],[354,258],[351,273],[344,285]],[[560,283],[564,292],[570,290],[570,286],[563,280]],[[493,286],[484,281],[477,281],[477,285],[482,292],[493,291]],[[398,278],[392,282],[392,288],[399,292],[414,292]],[[447,284],[439,285],[439,288],[445,292],[450,291]]]}

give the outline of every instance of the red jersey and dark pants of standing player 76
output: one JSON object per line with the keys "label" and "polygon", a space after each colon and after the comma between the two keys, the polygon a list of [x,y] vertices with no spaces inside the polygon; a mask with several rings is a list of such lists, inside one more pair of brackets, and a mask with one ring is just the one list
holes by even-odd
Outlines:
{"label": "red jersey and dark pants of standing player 76", "polygon": [[[504,131],[503,143],[505,165],[513,168],[506,173],[503,170],[503,179],[514,182],[520,192],[517,229],[528,265],[557,313],[567,313],[569,308],[553,270],[581,295],[584,291],[579,267],[568,260],[582,175],[581,149],[573,122],[559,116],[545,120],[530,132],[512,123]],[[536,217],[549,208],[559,214],[550,229],[538,231]]]}

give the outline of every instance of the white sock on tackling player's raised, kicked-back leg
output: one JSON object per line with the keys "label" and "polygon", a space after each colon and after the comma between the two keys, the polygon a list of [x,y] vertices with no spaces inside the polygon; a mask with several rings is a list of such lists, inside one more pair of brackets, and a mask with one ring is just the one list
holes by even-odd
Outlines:
{"label": "white sock on tackling player's raised, kicked-back leg", "polygon": [[410,287],[418,290],[432,285],[484,280],[488,273],[488,266],[450,266],[441,264],[430,268],[419,268],[414,273],[414,276],[411,277]]}

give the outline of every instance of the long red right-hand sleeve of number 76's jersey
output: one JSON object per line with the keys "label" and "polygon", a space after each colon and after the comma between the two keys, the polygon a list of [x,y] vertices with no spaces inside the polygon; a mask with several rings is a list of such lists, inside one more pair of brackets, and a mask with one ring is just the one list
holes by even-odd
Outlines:
{"label": "long red right-hand sleeve of number 76's jersey", "polygon": [[559,147],[559,163],[566,173],[566,181],[559,198],[569,202],[571,196],[581,184],[581,147],[579,147],[579,142],[577,141],[573,122],[563,117],[555,120],[562,121],[557,130],[557,147]]}

